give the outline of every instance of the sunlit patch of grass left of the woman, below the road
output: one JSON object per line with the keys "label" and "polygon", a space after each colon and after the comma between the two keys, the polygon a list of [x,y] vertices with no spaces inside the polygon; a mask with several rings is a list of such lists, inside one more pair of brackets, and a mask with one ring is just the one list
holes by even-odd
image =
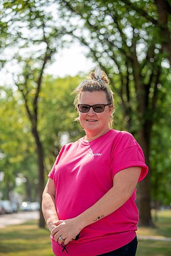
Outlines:
{"label": "sunlit patch of grass left of the woman, below the road", "polygon": [[52,256],[50,232],[38,228],[36,221],[2,228],[0,255]]}

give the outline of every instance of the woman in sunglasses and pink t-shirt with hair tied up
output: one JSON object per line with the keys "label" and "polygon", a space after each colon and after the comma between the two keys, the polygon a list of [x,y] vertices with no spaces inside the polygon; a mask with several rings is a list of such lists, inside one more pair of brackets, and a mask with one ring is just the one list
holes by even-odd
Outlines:
{"label": "woman in sunglasses and pink t-shirt with hair tied up", "polygon": [[86,136],[66,144],[49,173],[42,211],[55,255],[130,255],[137,249],[136,185],[147,174],[142,150],[110,128],[113,93],[98,67],[75,90]]}

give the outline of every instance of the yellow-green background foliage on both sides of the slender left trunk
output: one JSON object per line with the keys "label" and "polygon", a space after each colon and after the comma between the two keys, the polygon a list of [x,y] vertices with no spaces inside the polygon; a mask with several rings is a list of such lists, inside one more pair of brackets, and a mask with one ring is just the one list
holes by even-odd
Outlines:
{"label": "yellow-green background foliage on both sides of the slender left trunk", "polygon": [[[74,122],[74,95],[70,95],[80,81],[79,76],[56,79],[45,76],[42,83],[38,131],[44,149],[46,179],[64,143],[63,135],[67,135],[67,143],[77,140],[82,132]],[[36,146],[19,91],[0,87],[0,117],[0,172],[5,174],[1,183],[3,199],[9,199],[9,193],[17,191],[23,200],[37,201]],[[18,180],[24,183],[18,185]]]}

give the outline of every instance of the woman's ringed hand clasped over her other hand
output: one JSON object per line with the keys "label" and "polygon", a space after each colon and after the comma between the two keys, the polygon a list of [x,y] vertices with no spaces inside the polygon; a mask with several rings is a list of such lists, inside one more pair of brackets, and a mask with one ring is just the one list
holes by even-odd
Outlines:
{"label": "woman's ringed hand clasped over her other hand", "polygon": [[[75,239],[77,234],[82,229],[76,218],[68,219],[65,221],[60,220],[57,221],[55,225],[56,227],[51,231],[51,236],[55,241],[63,244],[68,244],[70,241]],[[61,237],[63,240],[60,240],[59,237]]]}

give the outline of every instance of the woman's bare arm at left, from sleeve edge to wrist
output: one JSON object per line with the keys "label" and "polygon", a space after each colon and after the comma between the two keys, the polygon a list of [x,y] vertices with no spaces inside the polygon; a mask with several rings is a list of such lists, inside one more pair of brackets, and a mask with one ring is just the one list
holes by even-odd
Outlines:
{"label": "woman's bare arm at left, from sleeve edge to wrist", "polygon": [[52,231],[56,227],[54,223],[59,219],[55,207],[55,186],[51,178],[48,179],[44,193],[42,194],[42,213],[49,230]]}

